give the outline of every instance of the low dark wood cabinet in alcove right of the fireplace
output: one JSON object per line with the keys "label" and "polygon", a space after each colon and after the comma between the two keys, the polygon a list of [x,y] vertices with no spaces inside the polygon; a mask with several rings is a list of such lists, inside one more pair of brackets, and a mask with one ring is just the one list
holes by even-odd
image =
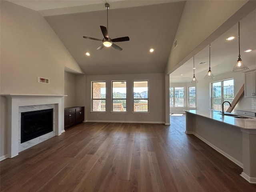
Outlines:
{"label": "low dark wood cabinet in alcove right of the fireplace", "polygon": [[84,107],[68,107],[64,109],[64,129],[84,121]]}

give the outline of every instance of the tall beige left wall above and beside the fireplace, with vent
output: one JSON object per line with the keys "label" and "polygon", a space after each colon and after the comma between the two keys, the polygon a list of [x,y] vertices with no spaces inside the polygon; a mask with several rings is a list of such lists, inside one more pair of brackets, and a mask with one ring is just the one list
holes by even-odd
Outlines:
{"label": "tall beige left wall above and beside the fireplace, with vent", "polygon": [[[64,68],[83,73],[38,12],[0,1],[0,94],[64,94]],[[37,82],[37,77],[50,84]],[[0,156],[6,151],[7,99],[0,97]],[[64,111],[62,112],[64,113]]]}

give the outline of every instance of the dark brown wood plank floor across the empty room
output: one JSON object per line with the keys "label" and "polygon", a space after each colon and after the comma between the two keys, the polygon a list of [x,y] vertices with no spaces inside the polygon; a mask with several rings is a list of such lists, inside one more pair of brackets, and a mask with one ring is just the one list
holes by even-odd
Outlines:
{"label": "dark brown wood plank floor across the empty room", "polygon": [[1,192],[255,192],[242,169],[163,124],[82,123],[1,164]]}

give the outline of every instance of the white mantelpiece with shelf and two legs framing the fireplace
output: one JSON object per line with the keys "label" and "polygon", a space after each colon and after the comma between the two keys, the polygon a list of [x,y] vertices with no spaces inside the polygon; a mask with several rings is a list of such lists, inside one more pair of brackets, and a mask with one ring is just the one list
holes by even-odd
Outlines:
{"label": "white mantelpiece with shelf and two legs framing the fireplace", "polygon": [[24,106],[51,105],[55,111],[55,135],[59,136],[64,130],[64,96],[39,94],[1,94],[8,98],[8,158],[18,155],[20,108]]}

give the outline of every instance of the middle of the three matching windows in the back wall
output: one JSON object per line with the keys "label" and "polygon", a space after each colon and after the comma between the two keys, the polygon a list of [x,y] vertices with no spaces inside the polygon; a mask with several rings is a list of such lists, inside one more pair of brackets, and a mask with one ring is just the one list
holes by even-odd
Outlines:
{"label": "middle of the three matching windows in the back wall", "polygon": [[126,111],[126,81],[112,81],[112,111]]}

